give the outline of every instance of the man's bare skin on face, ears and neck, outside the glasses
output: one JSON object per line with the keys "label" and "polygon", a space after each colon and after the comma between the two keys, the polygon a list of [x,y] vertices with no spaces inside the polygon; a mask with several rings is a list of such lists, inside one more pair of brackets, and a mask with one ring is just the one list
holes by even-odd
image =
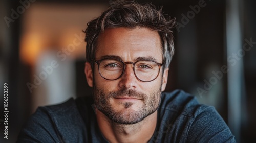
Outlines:
{"label": "man's bare skin on face, ears and neck, outside the glasses", "polygon": [[[156,31],[148,28],[105,29],[99,36],[96,60],[118,56],[122,61],[135,62],[150,58],[162,63],[161,40]],[[127,64],[117,80],[106,80],[94,73],[86,62],[85,73],[89,86],[94,88],[96,117],[104,137],[110,142],[147,142],[157,122],[161,91],[166,87],[168,68],[160,70],[157,79],[142,82],[136,79],[133,65]]]}

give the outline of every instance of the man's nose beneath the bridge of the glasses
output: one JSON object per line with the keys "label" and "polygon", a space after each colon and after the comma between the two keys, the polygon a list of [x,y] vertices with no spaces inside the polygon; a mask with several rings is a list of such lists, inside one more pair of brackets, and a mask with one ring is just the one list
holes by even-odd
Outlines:
{"label": "man's nose beneath the bridge of the glasses", "polygon": [[127,64],[124,73],[119,81],[120,88],[135,89],[138,80],[136,79],[133,71],[133,65]]}

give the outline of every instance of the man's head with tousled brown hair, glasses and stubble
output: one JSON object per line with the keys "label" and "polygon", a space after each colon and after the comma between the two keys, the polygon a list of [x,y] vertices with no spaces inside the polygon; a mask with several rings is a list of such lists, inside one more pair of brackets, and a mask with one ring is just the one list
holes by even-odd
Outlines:
{"label": "man's head with tousled brown hair, glasses and stubble", "polygon": [[134,124],[157,110],[174,54],[173,26],[161,9],[134,1],[116,1],[88,23],[85,73],[97,109],[111,121]]}

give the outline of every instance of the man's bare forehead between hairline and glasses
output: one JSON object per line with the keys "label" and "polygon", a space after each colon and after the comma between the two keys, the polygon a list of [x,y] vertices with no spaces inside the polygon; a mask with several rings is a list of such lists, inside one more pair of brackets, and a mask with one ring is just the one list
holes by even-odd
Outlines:
{"label": "man's bare forehead between hairline and glasses", "polygon": [[119,56],[124,61],[139,57],[154,57],[162,61],[161,39],[157,31],[148,28],[108,28],[100,34],[95,57]]}

